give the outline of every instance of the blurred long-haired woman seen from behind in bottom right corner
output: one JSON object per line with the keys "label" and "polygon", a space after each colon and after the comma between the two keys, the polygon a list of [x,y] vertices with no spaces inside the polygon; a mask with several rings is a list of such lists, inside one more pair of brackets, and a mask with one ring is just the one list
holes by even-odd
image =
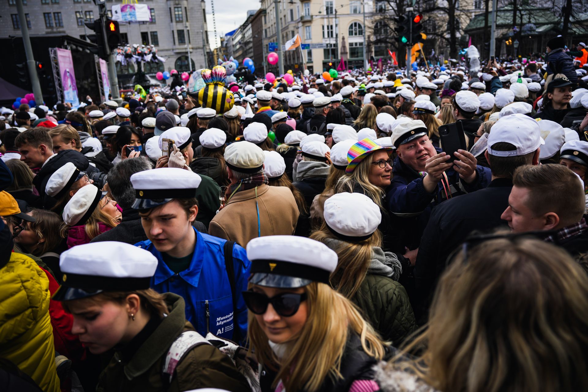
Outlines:
{"label": "blurred long-haired woman seen from behind in bottom right corner", "polygon": [[377,380],[384,392],[585,391],[587,350],[588,277],[572,257],[520,234],[479,236],[441,277],[426,329]]}

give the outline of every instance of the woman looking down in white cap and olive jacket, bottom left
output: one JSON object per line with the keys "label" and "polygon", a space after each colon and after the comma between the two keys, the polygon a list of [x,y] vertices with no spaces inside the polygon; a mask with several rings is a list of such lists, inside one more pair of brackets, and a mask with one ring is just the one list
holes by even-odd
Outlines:
{"label": "woman looking down in white cap and olive jacket, bottom left", "polygon": [[149,288],[158,261],[122,242],[82,244],[61,255],[64,283],[53,299],[74,319],[72,333],[95,355],[113,351],[98,391],[250,391],[228,356],[186,321],[185,301]]}

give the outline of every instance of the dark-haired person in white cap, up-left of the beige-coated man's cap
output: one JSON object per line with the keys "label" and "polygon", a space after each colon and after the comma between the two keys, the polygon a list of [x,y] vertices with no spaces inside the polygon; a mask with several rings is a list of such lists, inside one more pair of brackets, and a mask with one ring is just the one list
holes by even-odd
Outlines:
{"label": "dark-haired person in white cap, up-left of the beige-coated man's cap", "polygon": [[200,156],[190,164],[192,172],[211,177],[219,186],[229,185],[226,172],[225,153],[226,132],[209,128],[200,135]]}

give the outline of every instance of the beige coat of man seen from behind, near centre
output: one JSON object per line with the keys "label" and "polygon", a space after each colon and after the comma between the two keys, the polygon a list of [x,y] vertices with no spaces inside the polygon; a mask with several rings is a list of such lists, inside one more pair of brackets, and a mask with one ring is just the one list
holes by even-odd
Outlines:
{"label": "beige coat of man seen from behind, near centre", "polygon": [[298,206],[292,191],[285,186],[268,186],[242,190],[230,198],[212,219],[208,234],[235,241],[242,247],[258,237],[258,215],[262,236],[291,235],[298,221]]}

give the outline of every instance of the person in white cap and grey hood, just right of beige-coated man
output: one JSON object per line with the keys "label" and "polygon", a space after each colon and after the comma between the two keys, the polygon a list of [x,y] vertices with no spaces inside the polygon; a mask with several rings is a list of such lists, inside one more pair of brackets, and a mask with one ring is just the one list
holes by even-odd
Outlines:
{"label": "person in white cap and grey hood, just right of beige-coated man", "polygon": [[294,177],[294,186],[304,196],[306,205],[310,206],[315,196],[325,190],[325,182],[330,169],[326,155],[330,149],[325,144],[324,136],[320,135],[306,136],[305,139],[300,140],[300,144],[302,160],[296,166],[292,176]]}

